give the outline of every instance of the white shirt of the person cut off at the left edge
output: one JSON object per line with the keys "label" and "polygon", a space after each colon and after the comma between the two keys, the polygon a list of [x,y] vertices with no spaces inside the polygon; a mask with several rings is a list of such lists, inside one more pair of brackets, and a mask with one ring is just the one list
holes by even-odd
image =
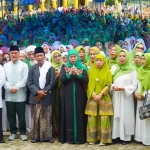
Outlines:
{"label": "white shirt of the person cut off at the left edge", "polygon": [[2,105],[2,86],[5,83],[5,73],[3,67],[0,65],[0,108],[3,107]]}

